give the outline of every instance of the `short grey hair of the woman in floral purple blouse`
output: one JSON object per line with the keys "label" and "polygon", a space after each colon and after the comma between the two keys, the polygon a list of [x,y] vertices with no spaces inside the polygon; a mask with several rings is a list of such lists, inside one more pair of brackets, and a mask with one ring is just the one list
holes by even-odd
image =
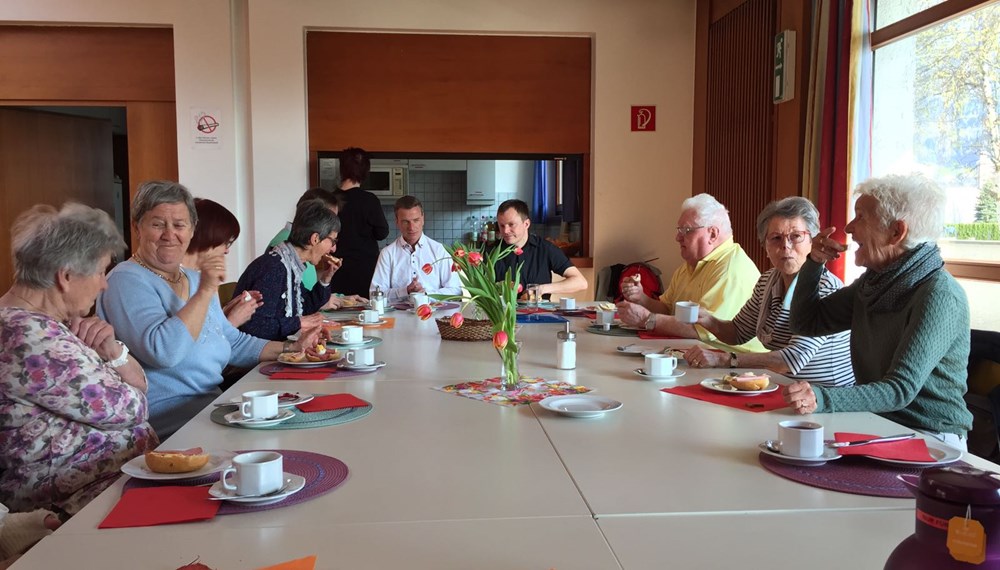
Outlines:
{"label": "short grey hair of the woman in floral purple blouse", "polygon": [[53,287],[62,270],[76,275],[103,272],[102,258],[120,257],[125,250],[107,212],[75,202],[59,210],[35,205],[17,217],[10,233],[14,281],[32,289]]}

